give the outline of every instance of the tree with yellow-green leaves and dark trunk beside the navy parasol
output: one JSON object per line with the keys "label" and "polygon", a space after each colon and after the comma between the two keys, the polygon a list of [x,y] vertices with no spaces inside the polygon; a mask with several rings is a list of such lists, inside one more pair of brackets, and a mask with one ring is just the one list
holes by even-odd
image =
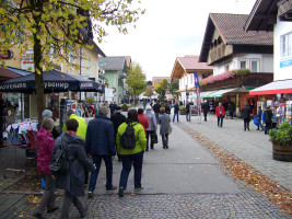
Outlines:
{"label": "tree with yellow-green leaves and dark trunk beside the navy parasol", "polygon": [[39,118],[45,108],[42,72],[55,67],[51,57],[60,61],[78,57],[81,46],[91,48],[93,33],[100,43],[109,25],[126,34],[125,24],[135,23],[144,13],[133,8],[135,0],[8,0],[0,4],[1,51],[13,46],[34,50]]}

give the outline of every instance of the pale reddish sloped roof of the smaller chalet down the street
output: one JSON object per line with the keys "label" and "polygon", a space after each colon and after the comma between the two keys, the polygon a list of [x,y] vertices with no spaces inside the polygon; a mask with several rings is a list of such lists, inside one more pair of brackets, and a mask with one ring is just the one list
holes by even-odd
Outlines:
{"label": "pale reddish sloped roof of the smaller chalet down the street", "polygon": [[185,57],[177,57],[177,60],[185,70],[213,69],[212,66],[208,66],[206,62],[199,62],[199,56],[187,55]]}

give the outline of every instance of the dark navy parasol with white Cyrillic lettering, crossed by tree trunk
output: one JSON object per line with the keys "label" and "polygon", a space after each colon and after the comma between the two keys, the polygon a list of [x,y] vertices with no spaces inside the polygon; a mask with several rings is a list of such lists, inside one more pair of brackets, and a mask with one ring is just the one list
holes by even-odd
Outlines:
{"label": "dark navy parasol with white Cyrillic lettering, crossed by tree trunk", "polygon": [[[95,81],[57,70],[44,71],[43,79],[45,93],[67,91],[104,92],[104,85]],[[31,73],[0,82],[0,91],[32,93],[35,91],[35,74]]]}

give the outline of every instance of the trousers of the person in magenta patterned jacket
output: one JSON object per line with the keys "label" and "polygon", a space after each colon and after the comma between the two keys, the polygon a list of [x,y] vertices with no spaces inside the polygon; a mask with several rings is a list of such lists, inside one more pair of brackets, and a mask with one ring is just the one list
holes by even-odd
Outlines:
{"label": "trousers of the person in magenta patterned jacket", "polygon": [[35,209],[35,212],[39,212],[42,215],[44,214],[46,208],[47,210],[50,210],[55,207],[55,181],[52,180],[51,174],[49,173],[44,173],[43,177],[46,182],[46,188],[37,208]]}

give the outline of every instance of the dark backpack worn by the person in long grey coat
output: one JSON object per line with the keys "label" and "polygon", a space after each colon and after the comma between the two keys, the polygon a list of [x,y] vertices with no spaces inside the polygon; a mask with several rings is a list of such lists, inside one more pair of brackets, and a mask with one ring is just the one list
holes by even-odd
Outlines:
{"label": "dark backpack worn by the person in long grey coat", "polygon": [[[60,139],[61,141],[62,139]],[[55,154],[51,157],[49,170],[52,175],[66,175],[70,171],[70,162],[67,159],[68,146],[59,143]]]}

